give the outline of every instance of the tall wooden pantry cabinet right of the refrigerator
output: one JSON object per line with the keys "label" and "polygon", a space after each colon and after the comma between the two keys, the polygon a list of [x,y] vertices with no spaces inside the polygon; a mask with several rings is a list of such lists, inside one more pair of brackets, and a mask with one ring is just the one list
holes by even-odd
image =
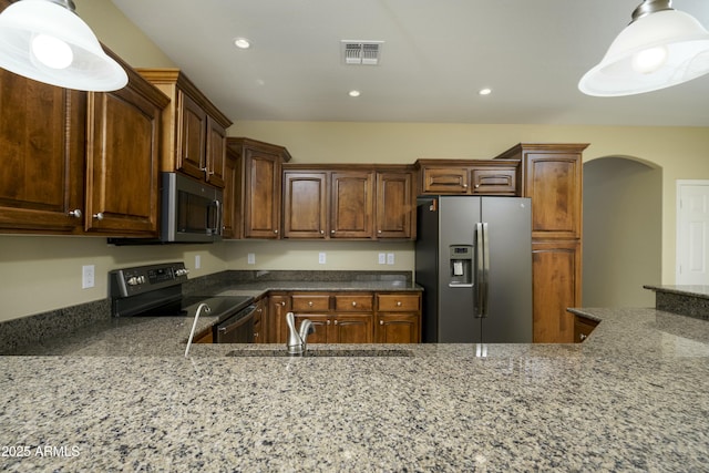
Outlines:
{"label": "tall wooden pantry cabinet right of the refrigerator", "polygon": [[582,153],[588,144],[518,144],[499,157],[522,163],[532,198],[534,341],[574,340],[568,307],[582,304]]}

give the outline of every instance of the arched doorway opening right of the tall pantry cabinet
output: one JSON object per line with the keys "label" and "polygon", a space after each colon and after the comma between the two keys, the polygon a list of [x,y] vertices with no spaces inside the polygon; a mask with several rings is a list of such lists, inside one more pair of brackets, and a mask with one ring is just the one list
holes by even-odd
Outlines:
{"label": "arched doorway opening right of the tall pantry cabinet", "polygon": [[662,169],[608,156],[584,163],[584,307],[653,307],[661,281]]}

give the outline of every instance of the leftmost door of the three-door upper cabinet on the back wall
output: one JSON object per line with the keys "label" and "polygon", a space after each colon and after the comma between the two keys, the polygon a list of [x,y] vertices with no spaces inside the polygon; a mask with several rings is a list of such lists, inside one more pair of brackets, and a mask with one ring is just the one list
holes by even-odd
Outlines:
{"label": "leftmost door of the three-door upper cabinet on the back wall", "polygon": [[327,237],[327,173],[284,173],[284,237]]}

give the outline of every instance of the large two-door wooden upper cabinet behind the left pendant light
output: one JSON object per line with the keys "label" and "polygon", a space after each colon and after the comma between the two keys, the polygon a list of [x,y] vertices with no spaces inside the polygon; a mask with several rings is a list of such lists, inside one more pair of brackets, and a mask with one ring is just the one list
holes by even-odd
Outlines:
{"label": "large two-door wooden upper cabinet behind the left pendant light", "polygon": [[129,84],[109,93],[0,71],[3,230],[156,235],[157,134],[168,99],[122,65]]}

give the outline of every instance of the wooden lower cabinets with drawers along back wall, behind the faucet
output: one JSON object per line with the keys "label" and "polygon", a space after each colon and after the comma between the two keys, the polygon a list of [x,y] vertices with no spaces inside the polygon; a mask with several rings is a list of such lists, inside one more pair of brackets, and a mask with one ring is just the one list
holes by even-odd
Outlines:
{"label": "wooden lower cabinets with drawers along back wall, behind the faucet", "polygon": [[315,333],[308,343],[419,343],[421,295],[419,292],[296,291],[271,294],[267,338],[286,343],[286,313],[296,327],[309,319]]}

